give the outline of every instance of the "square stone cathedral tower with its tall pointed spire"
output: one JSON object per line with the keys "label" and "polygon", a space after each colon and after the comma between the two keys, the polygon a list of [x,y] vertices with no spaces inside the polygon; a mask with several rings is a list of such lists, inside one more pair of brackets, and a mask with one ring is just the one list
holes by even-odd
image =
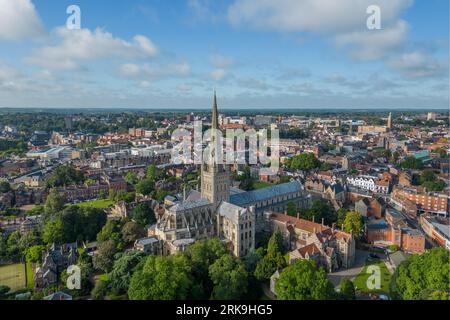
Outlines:
{"label": "square stone cathedral tower with its tall pointed spire", "polygon": [[[212,111],[212,135],[211,146],[215,145],[215,130],[219,129],[219,114],[217,112],[217,97],[214,92],[213,111]],[[204,160],[202,164],[202,198],[218,206],[222,201],[230,201],[230,168],[224,163],[217,163],[217,151],[212,148],[211,161]],[[221,151],[221,149],[219,149]],[[206,163],[205,163],[206,162]]]}

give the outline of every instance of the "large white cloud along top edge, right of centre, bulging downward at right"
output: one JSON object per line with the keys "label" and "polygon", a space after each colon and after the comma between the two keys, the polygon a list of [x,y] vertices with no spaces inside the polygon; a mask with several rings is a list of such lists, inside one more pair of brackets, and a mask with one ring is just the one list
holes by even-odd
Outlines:
{"label": "large white cloud along top edge, right of centre, bulging downward at right", "polygon": [[[400,19],[412,0],[240,0],[230,6],[235,26],[278,32],[324,35],[358,60],[377,60],[400,47],[408,24]],[[381,30],[368,30],[367,8],[377,5]]]}

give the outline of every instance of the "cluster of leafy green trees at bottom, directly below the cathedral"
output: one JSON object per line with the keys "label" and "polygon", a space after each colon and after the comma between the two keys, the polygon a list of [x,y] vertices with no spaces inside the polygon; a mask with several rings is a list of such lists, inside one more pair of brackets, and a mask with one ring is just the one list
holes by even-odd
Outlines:
{"label": "cluster of leafy green trees at bottom, directly below the cathedral", "polygon": [[186,253],[142,258],[129,279],[128,297],[236,300],[246,297],[248,281],[244,263],[218,239],[200,240]]}

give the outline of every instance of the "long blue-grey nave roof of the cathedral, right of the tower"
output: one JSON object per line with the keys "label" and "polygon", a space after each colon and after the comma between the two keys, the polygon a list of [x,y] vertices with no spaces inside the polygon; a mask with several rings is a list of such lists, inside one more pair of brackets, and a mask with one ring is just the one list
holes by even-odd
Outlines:
{"label": "long blue-grey nave roof of the cathedral, right of the tower", "polygon": [[264,201],[276,196],[299,192],[301,190],[303,190],[301,182],[292,181],[268,188],[232,194],[230,196],[230,202],[238,206],[245,206],[257,201]]}

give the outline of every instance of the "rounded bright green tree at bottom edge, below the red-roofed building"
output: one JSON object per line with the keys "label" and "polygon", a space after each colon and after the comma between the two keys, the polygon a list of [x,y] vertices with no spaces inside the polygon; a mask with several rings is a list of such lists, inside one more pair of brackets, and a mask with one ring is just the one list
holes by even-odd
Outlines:
{"label": "rounded bright green tree at bottom edge, below the red-roofed building", "polygon": [[328,300],[334,297],[333,284],[325,270],[313,260],[297,260],[281,271],[275,290],[280,300]]}

